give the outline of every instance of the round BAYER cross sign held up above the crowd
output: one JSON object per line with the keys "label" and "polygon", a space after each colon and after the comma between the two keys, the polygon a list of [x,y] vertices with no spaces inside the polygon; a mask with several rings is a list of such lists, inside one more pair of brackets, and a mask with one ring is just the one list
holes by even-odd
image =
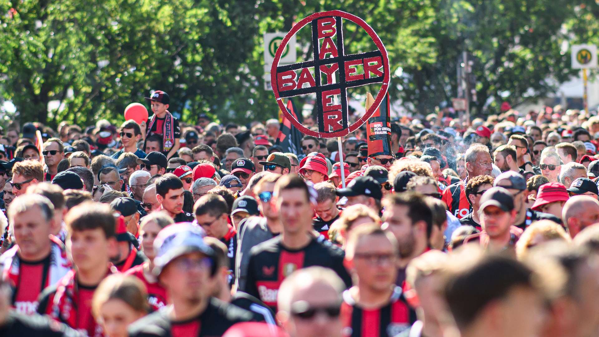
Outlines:
{"label": "round BAYER cross sign held up above the crowd", "polygon": [[[364,29],[376,50],[347,54],[344,20]],[[289,39],[308,24],[311,25],[313,59],[279,65]],[[271,83],[280,109],[299,131],[318,138],[345,136],[364,124],[385,97],[389,77],[389,59],[379,36],[364,20],[337,10],[314,13],[298,22],[280,42],[271,67]],[[347,88],[374,83],[381,83],[374,104],[356,122],[349,124]],[[318,131],[304,127],[285,106],[285,98],[309,94],[316,94]]]}

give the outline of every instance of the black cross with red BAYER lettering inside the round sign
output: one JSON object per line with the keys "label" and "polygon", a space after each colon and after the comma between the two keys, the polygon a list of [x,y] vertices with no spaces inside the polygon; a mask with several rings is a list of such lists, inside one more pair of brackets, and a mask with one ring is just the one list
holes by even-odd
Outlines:
{"label": "black cross with red BAYER lettering inside the round sign", "polygon": [[[347,88],[384,83],[385,78],[388,78],[388,74],[385,74],[388,66],[385,67],[384,64],[386,52],[383,57],[384,47],[380,40],[374,41],[379,50],[345,54],[342,20],[341,16],[322,16],[311,20],[314,59],[276,68],[276,84],[273,89],[278,89],[280,98],[316,94],[317,122],[321,137],[341,136],[340,132],[349,127]],[[362,26],[358,22],[356,24]],[[368,28],[371,31],[370,26]],[[372,33],[374,34],[373,31]],[[364,69],[361,74],[358,73],[359,66]],[[313,68],[314,76],[310,68]],[[337,72],[339,82],[333,83]],[[336,103],[335,96],[338,96],[340,104]]]}

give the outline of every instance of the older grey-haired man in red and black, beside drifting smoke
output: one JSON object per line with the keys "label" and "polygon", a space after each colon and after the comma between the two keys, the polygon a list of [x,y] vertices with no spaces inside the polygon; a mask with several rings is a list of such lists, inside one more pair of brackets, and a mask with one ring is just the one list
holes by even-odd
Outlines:
{"label": "older grey-haired man in red and black, beside drifting smoke", "polygon": [[476,176],[490,176],[493,169],[489,149],[480,144],[474,144],[468,148],[464,155],[467,176],[464,181],[453,183],[443,190],[441,200],[447,205],[447,209],[456,218],[461,219],[470,213],[470,203],[466,197],[466,183]]}

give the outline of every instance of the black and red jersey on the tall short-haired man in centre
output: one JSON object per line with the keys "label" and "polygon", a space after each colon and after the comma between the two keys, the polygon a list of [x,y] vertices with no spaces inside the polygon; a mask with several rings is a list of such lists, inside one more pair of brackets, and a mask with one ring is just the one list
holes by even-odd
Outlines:
{"label": "black and red jersey on the tall short-haired man in centre", "polygon": [[345,253],[332,245],[324,237],[314,237],[301,249],[288,249],[283,246],[281,236],[260,243],[250,251],[247,266],[246,293],[258,297],[276,311],[279,287],[287,276],[297,269],[321,266],[339,275],[346,287],[351,287],[352,279],[343,266]]}

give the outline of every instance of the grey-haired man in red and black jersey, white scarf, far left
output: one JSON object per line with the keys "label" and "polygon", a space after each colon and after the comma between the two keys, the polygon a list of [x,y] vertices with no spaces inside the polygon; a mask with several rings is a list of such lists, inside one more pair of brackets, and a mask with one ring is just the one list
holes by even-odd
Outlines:
{"label": "grey-haired man in red and black jersey, white scarf, far left", "polygon": [[15,245],[0,257],[0,277],[14,288],[16,311],[33,314],[41,291],[65,276],[71,263],[62,242],[50,236],[58,232],[60,224],[48,198],[39,194],[17,197],[8,207],[8,221]]}

